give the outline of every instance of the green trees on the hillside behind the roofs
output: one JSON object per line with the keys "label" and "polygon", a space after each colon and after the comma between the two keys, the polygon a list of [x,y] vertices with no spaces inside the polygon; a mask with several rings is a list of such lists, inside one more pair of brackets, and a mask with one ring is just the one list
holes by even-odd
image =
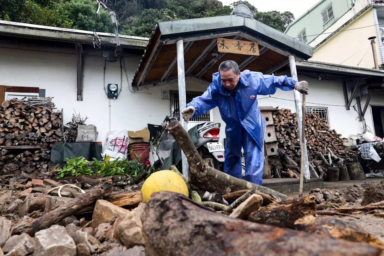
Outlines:
{"label": "green trees on the hillside behind the roofs", "polygon": [[[94,0],[1,0],[0,19],[98,32],[113,32],[109,12]],[[229,15],[238,4],[247,5],[254,18],[283,32],[293,21],[290,12],[259,12],[247,1],[223,6],[219,0],[103,0],[116,13],[119,32],[149,37],[158,22]],[[96,21],[96,22],[95,22]]]}

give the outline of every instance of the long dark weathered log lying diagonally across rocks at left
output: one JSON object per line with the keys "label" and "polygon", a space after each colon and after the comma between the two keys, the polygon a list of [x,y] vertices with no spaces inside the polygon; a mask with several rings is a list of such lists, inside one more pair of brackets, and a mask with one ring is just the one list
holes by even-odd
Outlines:
{"label": "long dark weathered log lying diagonally across rocks at left", "polygon": [[31,224],[25,226],[18,226],[13,229],[12,235],[27,233],[30,236],[33,236],[37,231],[41,229],[46,229],[52,226],[53,224],[58,223],[59,221],[65,219],[68,216],[73,215],[78,212],[83,207],[88,204],[93,203],[94,201],[108,196],[112,192],[112,181],[107,181],[106,183],[101,184],[97,188],[88,191],[87,193],[68,201],[58,208],[50,211],[49,213],[44,214],[38,219],[35,219]]}

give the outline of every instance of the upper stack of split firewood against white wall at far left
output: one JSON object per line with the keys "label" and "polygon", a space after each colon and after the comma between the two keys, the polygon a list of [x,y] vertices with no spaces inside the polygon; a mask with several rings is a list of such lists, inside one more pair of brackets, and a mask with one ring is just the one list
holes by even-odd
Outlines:
{"label": "upper stack of split firewood against white wall at far left", "polygon": [[0,106],[0,145],[53,146],[61,141],[61,112],[51,103],[6,100]]}

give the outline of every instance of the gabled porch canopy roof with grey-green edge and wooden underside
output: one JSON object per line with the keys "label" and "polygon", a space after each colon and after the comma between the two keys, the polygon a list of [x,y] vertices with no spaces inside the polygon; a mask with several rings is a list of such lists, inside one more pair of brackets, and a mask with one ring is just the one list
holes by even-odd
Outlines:
{"label": "gabled porch canopy roof with grey-green edge and wooden underside", "polygon": [[[236,12],[235,12],[236,13]],[[245,16],[247,15],[247,17]],[[251,13],[222,17],[160,22],[152,32],[133,86],[138,90],[177,80],[176,42],[184,42],[185,76],[211,82],[212,74],[225,60],[234,60],[240,70],[273,73],[288,65],[288,56],[297,60],[312,57],[313,47],[251,18]],[[220,53],[217,38],[256,42],[260,56]]]}

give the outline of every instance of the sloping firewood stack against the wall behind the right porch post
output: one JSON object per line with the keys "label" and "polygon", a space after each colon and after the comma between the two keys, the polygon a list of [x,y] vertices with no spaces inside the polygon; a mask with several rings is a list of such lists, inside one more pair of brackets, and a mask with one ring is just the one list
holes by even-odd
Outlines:
{"label": "sloping firewood stack against the wall behind the right porch post", "polygon": [[[292,114],[290,109],[282,108],[273,115],[273,118],[276,137],[280,142],[279,148],[288,155],[300,158],[300,139],[296,114]],[[316,152],[328,152],[328,148],[334,153],[345,149],[343,140],[340,138],[341,134],[335,130],[329,130],[329,125],[325,123],[324,118],[319,117],[318,113],[307,114],[305,122],[308,155]]]}

